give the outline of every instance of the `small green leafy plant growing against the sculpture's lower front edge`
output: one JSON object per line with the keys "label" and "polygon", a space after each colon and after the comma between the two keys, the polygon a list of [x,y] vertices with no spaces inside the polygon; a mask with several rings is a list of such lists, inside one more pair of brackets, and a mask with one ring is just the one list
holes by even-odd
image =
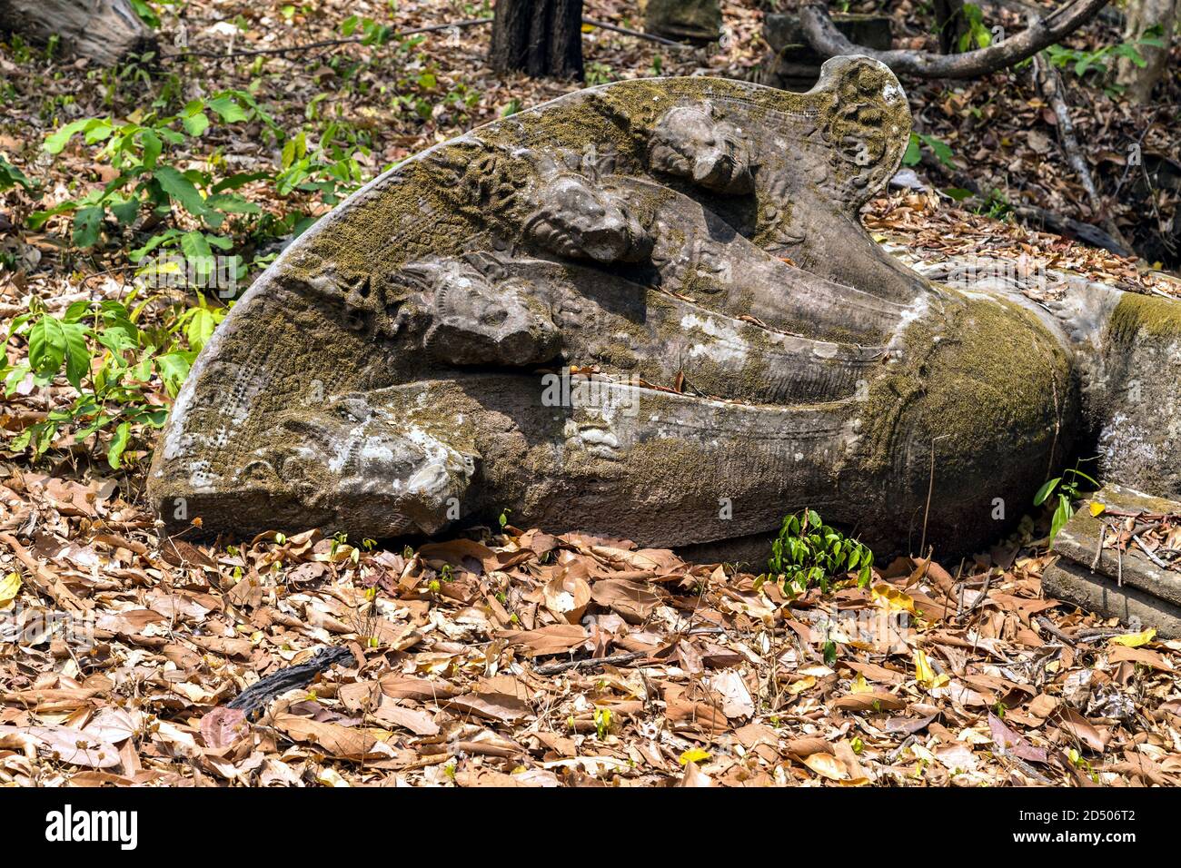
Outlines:
{"label": "small green leafy plant growing against the sculpture's lower front edge", "polygon": [[860,585],[868,585],[873,564],[874,553],[866,546],[824,524],[816,510],[804,509],[783,520],[768,569],[796,593],[814,585],[827,593],[830,582],[852,572]]}

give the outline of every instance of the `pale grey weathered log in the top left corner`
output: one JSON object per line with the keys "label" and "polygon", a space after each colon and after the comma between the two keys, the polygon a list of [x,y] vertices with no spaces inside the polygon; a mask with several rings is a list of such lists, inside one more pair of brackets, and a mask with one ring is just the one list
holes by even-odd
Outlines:
{"label": "pale grey weathered log in the top left corner", "polygon": [[39,43],[56,34],[105,66],[156,46],[128,0],[0,0],[0,30]]}

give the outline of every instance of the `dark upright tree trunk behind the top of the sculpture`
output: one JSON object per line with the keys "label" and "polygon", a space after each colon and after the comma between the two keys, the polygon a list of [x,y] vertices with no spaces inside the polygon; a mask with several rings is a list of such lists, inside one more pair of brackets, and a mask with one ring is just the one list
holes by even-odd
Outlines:
{"label": "dark upright tree trunk behind the top of the sculpture", "polygon": [[582,0],[497,0],[489,61],[500,73],[582,80]]}

